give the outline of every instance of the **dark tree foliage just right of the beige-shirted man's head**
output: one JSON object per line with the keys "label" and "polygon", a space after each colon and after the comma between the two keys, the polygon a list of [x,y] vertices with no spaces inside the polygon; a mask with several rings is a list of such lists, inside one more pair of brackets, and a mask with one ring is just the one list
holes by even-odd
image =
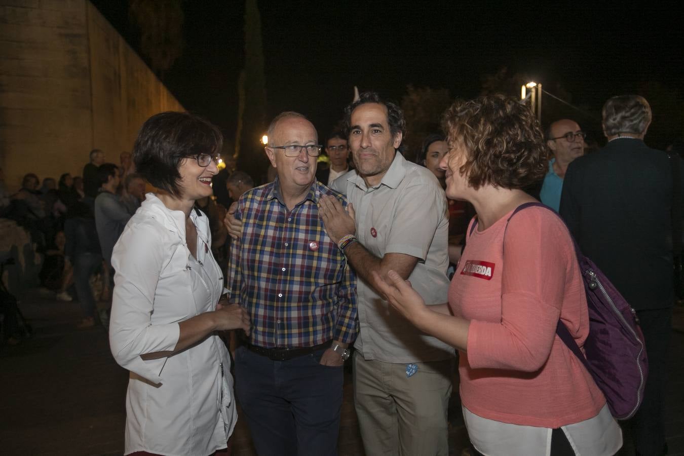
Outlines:
{"label": "dark tree foliage just right of the beige-shirted man's head", "polygon": [[429,87],[415,88],[408,85],[402,97],[402,110],[406,119],[406,136],[404,137],[404,157],[415,161],[423,144],[423,139],[430,133],[438,133],[444,111],[451,105],[451,96],[447,89]]}

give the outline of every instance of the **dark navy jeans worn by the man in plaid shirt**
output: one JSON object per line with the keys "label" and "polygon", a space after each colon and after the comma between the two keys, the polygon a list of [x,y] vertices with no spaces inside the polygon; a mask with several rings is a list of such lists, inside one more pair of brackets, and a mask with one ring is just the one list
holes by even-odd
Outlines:
{"label": "dark navy jeans worn by the man in plaid shirt", "polygon": [[235,393],[259,456],[337,455],[343,369],[319,364],[324,351],[288,361],[235,351]]}

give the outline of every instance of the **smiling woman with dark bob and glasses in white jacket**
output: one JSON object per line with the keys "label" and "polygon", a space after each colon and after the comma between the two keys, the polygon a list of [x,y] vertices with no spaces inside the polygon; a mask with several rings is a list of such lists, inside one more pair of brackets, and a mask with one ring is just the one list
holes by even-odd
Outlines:
{"label": "smiling woman with dark bob and glasses in white jacket", "polygon": [[135,141],[148,193],[114,246],[109,342],[130,371],[124,454],[229,454],[237,419],[221,330],[250,321],[218,304],[223,275],[211,255],[207,216],[221,133],[189,113],[149,118]]}

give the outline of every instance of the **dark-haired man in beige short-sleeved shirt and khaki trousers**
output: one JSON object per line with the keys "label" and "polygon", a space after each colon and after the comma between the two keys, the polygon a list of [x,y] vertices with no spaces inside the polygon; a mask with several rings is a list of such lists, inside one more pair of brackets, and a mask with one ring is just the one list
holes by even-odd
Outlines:
{"label": "dark-haired man in beige short-sleeved shirt and khaki trousers", "polygon": [[[371,273],[393,269],[427,304],[447,301],[447,200],[425,167],[397,152],[403,113],[365,93],[345,110],[356,170],[331,188],[319,213],[356,271],[360,334],[354,348],[354,399],[368,455],[447,455],[447,404],[454,350],[419,334],[375,289]],[[355,215],[355,217],[354,217]]]}

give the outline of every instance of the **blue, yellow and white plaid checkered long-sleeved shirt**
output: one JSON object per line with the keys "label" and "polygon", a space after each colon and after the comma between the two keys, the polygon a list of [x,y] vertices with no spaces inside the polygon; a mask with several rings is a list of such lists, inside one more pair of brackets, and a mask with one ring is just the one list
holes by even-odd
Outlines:
{"label": "blue, yellow and white plaid checkered long-sleeved shirt", "polygon": [[254,345],[313,347],[356,338],[356,277],[324,230],[322,195],[347,206],[341,193],[315,181],[288,211],[277,177],[239,199],[242,236],[231,245],[229,300],[248,310]]}

